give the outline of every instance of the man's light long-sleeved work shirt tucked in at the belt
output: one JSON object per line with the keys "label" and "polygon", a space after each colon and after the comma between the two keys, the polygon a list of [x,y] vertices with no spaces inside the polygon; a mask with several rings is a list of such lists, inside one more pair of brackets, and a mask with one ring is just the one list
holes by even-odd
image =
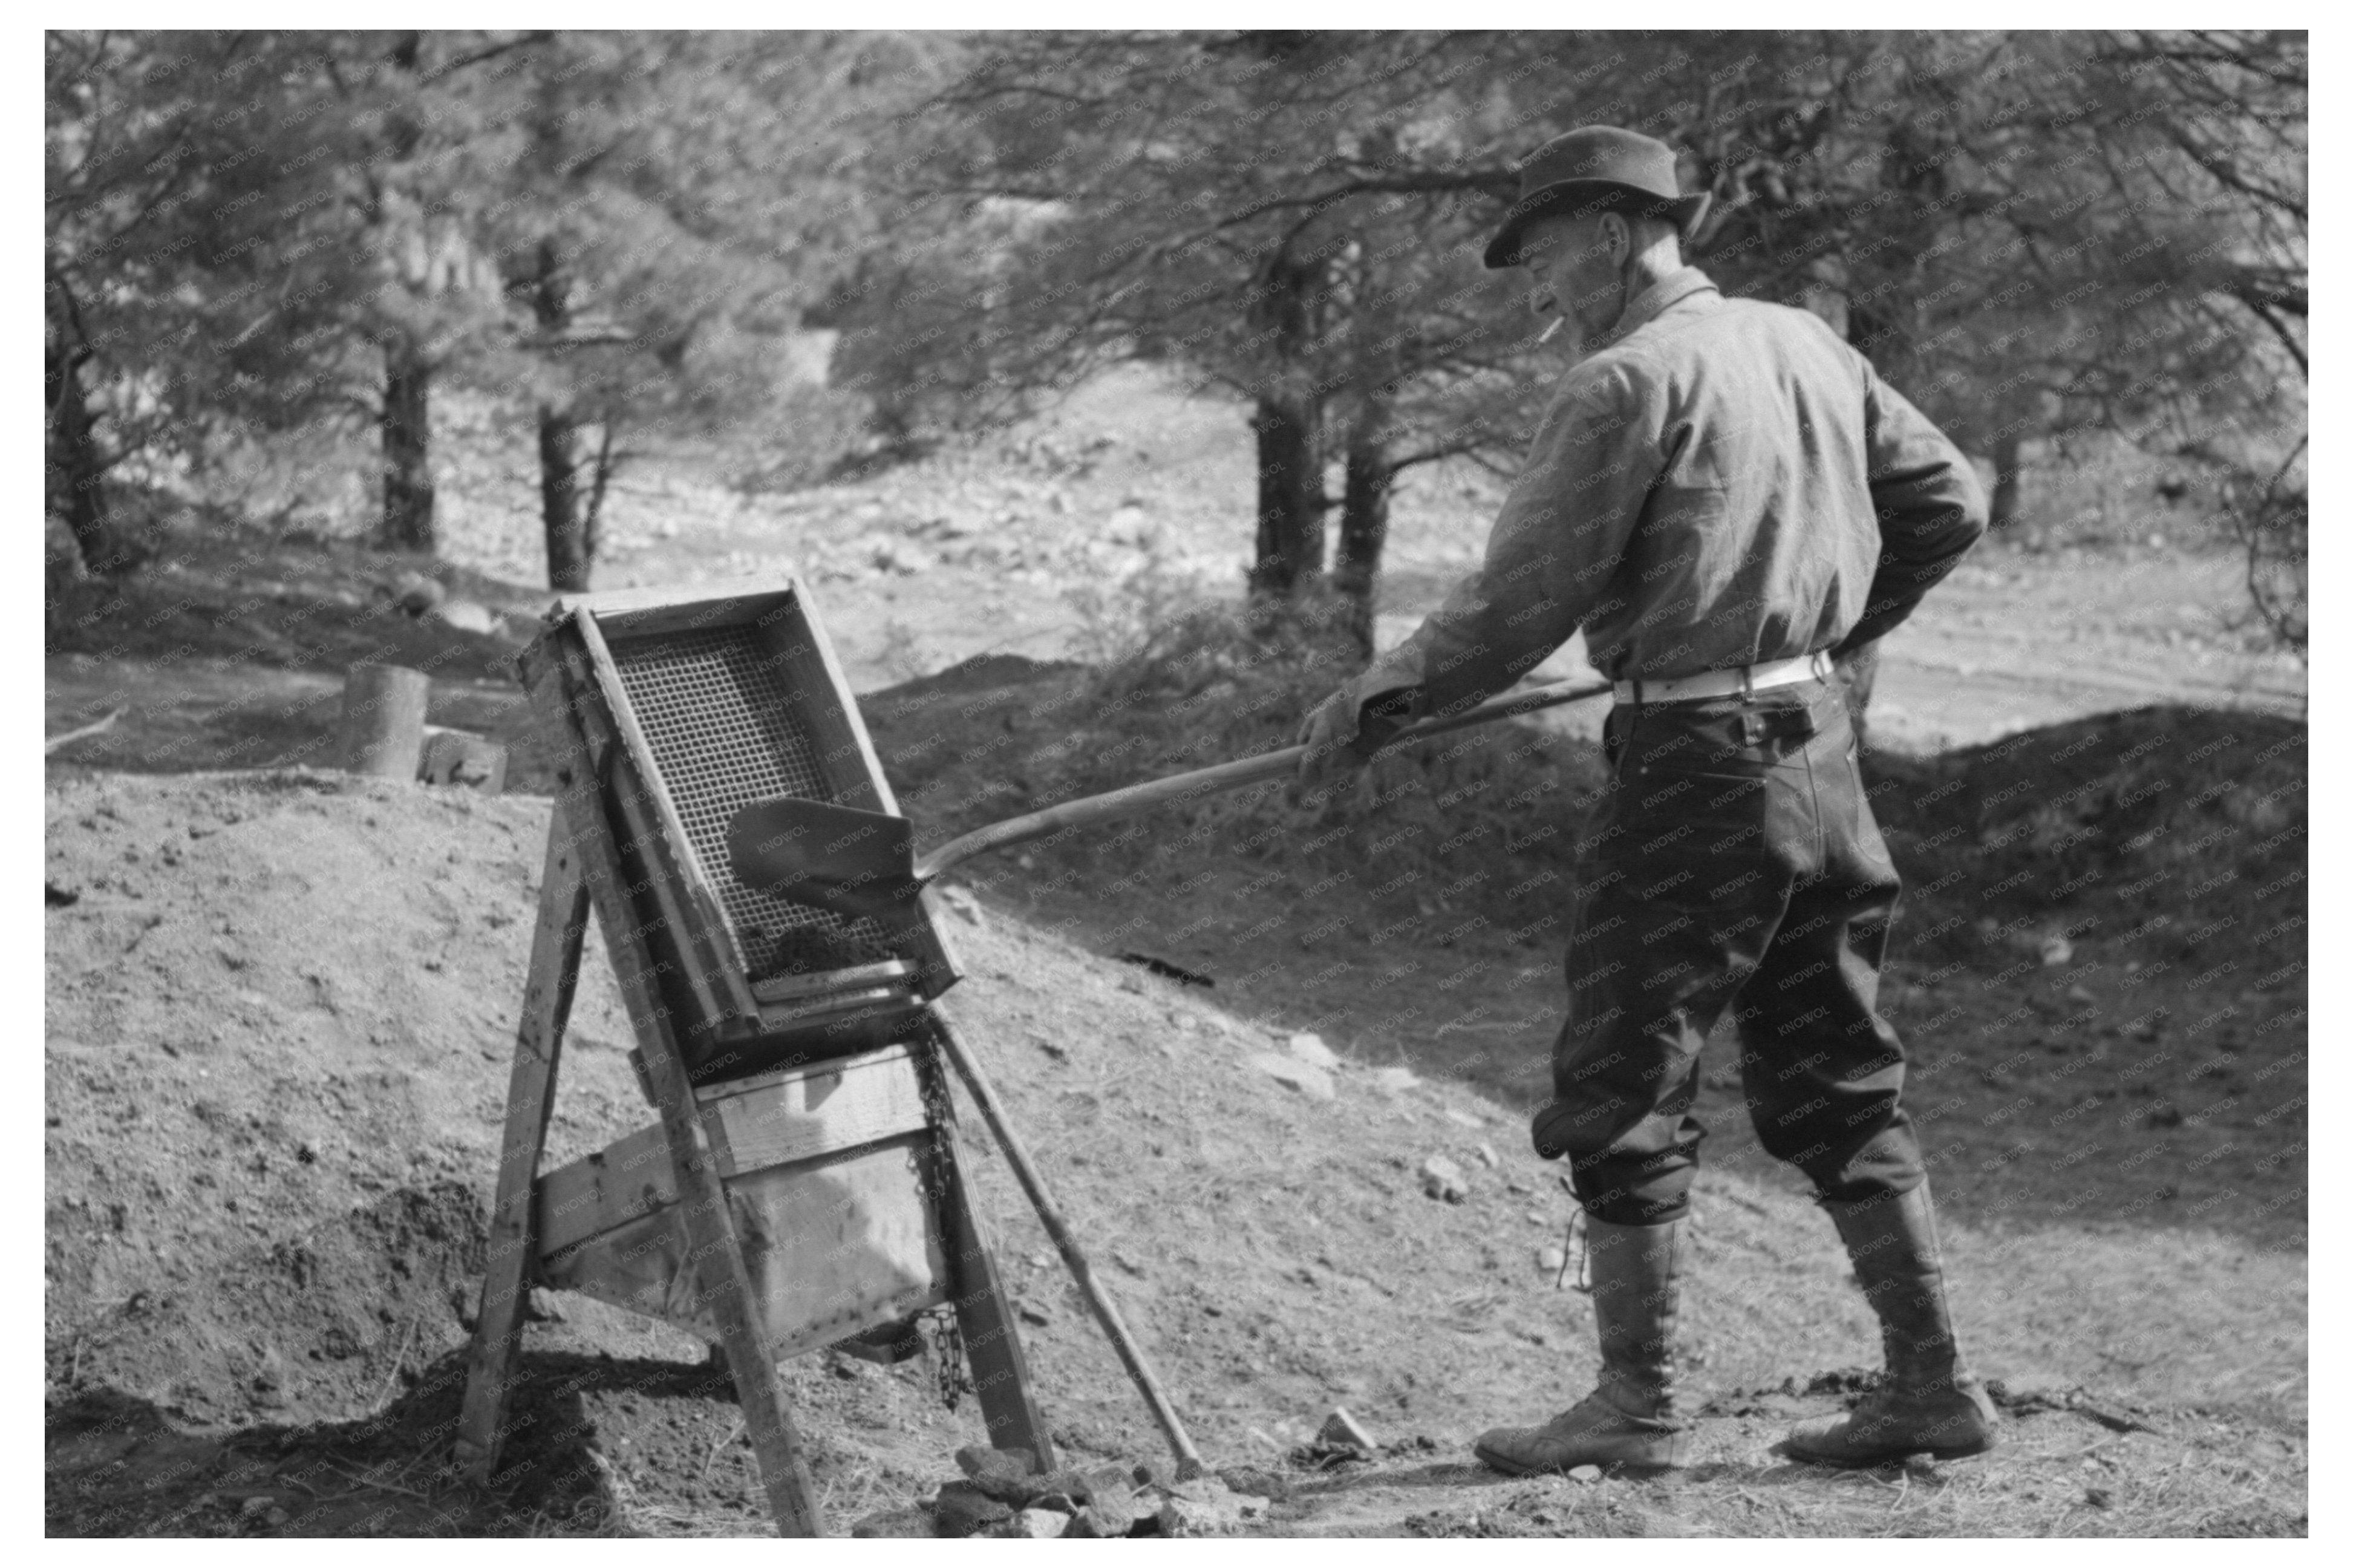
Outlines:
{"label": "man's light long-sleeved work shirt tucked in at the belt", "polygon": [[1485,563],[1355,690],[1452,713],[1579,626],[1612,680],[1857,647],[1984,532],[1969,459],[1871,360],[1685,266],[1562,374]]}

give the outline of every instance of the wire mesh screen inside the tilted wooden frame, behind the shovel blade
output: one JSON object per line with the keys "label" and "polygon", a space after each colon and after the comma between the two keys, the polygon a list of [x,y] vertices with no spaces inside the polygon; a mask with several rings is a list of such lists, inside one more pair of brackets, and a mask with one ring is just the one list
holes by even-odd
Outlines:
{"label": "wire mesh screen inside the tilted wooden frame, behind the shovel blade", "polygon": [[687,841],[734,925],[746,979],[892,958],[875,921],[847,921],[736,881],[727,822],[739,808],[772,796],[833,800],[781,659],[760,636],[751,626],[616,636],[612,662]]}

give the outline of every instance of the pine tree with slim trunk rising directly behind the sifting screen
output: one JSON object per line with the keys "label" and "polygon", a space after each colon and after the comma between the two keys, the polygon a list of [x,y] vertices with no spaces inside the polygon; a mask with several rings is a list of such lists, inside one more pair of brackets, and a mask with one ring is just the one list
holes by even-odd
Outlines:
{"label": "pine tree with slim trunk rising directly behind the sifting screen", "polygon": [[489,233],[527,323],[475,374],[529,393],[548,586],[588,586],[633,436],[776,405],[781,339],[864,233],[838,167],[906,57],[821,33],[565,33],[534,54]]}

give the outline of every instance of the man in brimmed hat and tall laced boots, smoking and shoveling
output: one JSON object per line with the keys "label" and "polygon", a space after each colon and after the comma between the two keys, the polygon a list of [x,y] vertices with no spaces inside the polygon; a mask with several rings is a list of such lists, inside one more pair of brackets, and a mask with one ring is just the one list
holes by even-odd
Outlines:
{"label": "man in brimmed hat and tall laced boots, smoking and shoveling", "polygon": [[1673,153],[1586,127],[1539,148],[1487,266],[1522,266],[1574,363],[1461,582],[1301,727],[1311,784],[1400,725],[1518,680],[1579,626],[1617,683],[1614,784],[1579,850],[1567,1022],[1537,1151],[1584,1205],[1600,1384],[1499,1427],[1504,1471],[1689,1455],[1671,1330],[1701,1123],[1699,1048],[1732,1010],[1762,1144],[1812,1177],[1878,1311],[1887,1377],[1800,1422],[1807,1460],[1967,1455],[1995,1415],[1962,1368],[1934,1215],[1878,1017],[1901,890],[1833,678],[1986,527],[1967,459],[1805,311],[1682,266],[1706,195]]}

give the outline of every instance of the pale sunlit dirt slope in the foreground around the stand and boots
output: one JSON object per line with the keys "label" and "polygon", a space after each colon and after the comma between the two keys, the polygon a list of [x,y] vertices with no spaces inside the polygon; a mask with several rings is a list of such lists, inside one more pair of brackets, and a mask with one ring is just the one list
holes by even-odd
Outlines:
{"label": "pale sunlit dirt slope in the foreground around the stand and boots", "polygon": [[[762,1528],[699,1344],[562,1300],[532,1328],[525,1479],[440,1471],[478,1290],[546,805],[313,772],[54,779],[47,916],[52,1533]],[[951,996],[1047,1180],[1217,1464],[1275,1464],[1346,1403],[1398,1448],[1299,1474],[1294,1533],[2301,1533],[2304,1255],[2195,1224],[1955,1227],[1955,1311],[2014,1408],[2005,1455],[1868,1476],[1784,1464],[1819,1373],[1871,1361],[1828,1227],[1711,1172],[1685,1321],[1713,1396],[1664,1483],[1506,1483],[1468,1462],[1593,1373],[1539,1248],[1569,1201],[1515,1111],[1461,1083],[1271,1078],[1289,1029],[1002,909]],[[551,1158],[652,1114],[588,965]],[[1158,1441],[967,1118],[1040,1394],[1080,1455]],[[1424,1158],[1468,1201],[1424,1196]],[[791,1366],[835,1526],[974,1441],[929,1363]],[[1819,1391],[1807,1391],[1817,1387]],[[2089,1389],[2092,1417],[2068,1394]],[[2080,1403],[2080,1401],[2078,1401]],[[2104,1424],[2106,1422],[2106,1424]],[[2129,1431],[2115,1424],[2134,1427]],[[1426,1439],[1426,1446],[1417,1443]]]}

